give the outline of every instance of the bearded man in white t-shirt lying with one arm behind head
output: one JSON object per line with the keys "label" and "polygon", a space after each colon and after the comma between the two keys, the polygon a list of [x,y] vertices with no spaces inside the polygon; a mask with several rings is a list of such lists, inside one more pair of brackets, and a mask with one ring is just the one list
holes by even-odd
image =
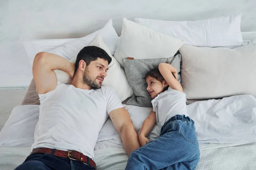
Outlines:
{"label": "bearded man in white t-shirt lying with one arm behind head", "polygon": [[[40,52],[33,77],[40,98],[32,153],[16,170],[93,170],[93,150],[102,125],[110,116],[128,155],[140,147],[137,133],[122,103],[110,87],[102,86],[111,57],[101,48],[84,47],[76,63]],[[73,78],[57,81],[54,70]]]}

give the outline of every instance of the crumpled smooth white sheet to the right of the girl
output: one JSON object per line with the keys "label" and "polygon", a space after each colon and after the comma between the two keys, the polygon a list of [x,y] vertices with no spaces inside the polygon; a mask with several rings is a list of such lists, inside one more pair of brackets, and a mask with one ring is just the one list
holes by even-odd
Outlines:
{"label": "crumpled smooth white sheet to the right of the girl", "polygon": [[195,102],[187,106],[199,142],[256,142],[256,98],[251,95]]}

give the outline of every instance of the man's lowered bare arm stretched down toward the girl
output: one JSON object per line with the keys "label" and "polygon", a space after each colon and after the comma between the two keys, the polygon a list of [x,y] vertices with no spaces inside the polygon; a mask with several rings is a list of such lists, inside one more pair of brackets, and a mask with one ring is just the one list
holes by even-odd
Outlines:
{"label": "man's lowered bare arm stretched down toward the girl", "polygon": [[125,108],[118,108],[109,113],[114,127],[121,136],[122,143],[128,156],[140,147],[138,135]]}

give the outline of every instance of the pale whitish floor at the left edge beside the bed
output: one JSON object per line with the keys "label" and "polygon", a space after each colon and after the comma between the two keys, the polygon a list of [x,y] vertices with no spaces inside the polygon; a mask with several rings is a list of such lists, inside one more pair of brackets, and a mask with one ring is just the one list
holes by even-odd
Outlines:
{"label": "pale whitish floor at the left edge beside the bed", "polygon": [[22,102],[26,90],[27,88],[0,88],[0,131],[12,109]]}

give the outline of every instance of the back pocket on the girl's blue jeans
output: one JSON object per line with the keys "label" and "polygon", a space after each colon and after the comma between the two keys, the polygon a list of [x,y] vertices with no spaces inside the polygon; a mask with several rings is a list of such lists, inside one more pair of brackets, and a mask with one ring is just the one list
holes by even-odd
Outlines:
{"label": "back pocket on the girl's blue jeans", "polygon": [[195,133],[195,125],[192,123],[184,123],[181,127],[180,133],[186,139],[186,141],[196,144],[198,142],[198,139],[196,137]]}

